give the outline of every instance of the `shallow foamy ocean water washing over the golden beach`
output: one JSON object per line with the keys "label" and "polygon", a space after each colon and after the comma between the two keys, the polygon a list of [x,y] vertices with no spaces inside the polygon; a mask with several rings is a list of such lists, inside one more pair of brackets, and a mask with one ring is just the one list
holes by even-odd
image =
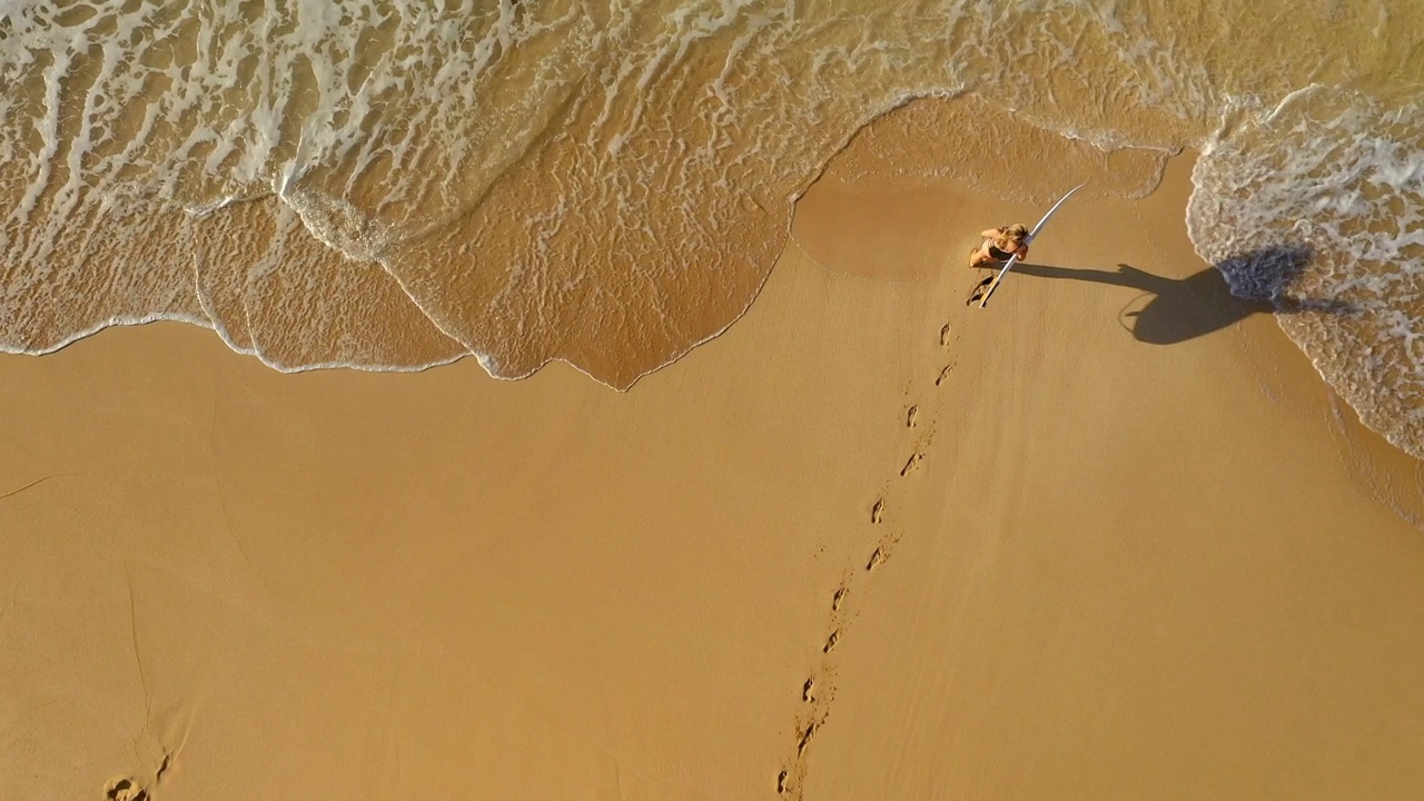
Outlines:
{"label": "shallow foamy ocean water washing over the golden beach", "polygon": [[1198,148],[1199,254],[1424,456],[1420,31],[1407,0],[0,0],[0,348],[169,318],[283,371],[627,388],[746,309],[857,130],[974,97],[1105,191]]}

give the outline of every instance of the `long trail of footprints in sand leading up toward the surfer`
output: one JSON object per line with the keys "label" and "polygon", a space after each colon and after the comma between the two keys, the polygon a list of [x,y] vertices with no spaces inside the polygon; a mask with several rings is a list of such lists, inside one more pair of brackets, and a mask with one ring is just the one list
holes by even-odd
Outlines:
{"label": "long trail of footprints in sand leading up toward the surfer", "polygon": [[[954,342],[953,334],[954,332],[948,324],[940,329],[940,346],[946,351]],[[953,371],[954,362],[941,368],[938,375],[934,378],[934,386],[943,385]],[[917,429],[918,425],[920,405],[910,403],[904,410],[904,428]],[[904,466],[899,470],[901,479],[907,479],[920,467],[920,463],[924,462],[933,439],[934,425],[931,420],[926,433],[914,439],[910,456],[906,459]],[[879,529],[886,522],[890,509],[887,500],[890,495],[890,485],[886,485],[881,487],[876,500],[870,505],[867,517],[870,519],[870,526],[873,529]],[[780,771],[776,774],[778,795],[789,795],[793,800],[802,798],[802,782],[806,778],[806,750],[816,737],[816,731],[826,724],[826,718],[830,714],[830,701],[834,696],[834,666],[832,661],[833,651],[836,650],[836,646],[840,644],[846,633],[846,599],[850,596],[852,587],[857,584],[857,579],[863,583],[869,579],[870,573],[874,573],[886,563],[886,560],[890,559],[890,552],[899,540],[900,532],[894,530],[891,526],[886,526],[884,533],[876,539],[876,544],[866,562],[849,569],[844,577],[842,577],[840,586],[836,587],[836,591],[830,597],[830,616],[826,626],[829,633],[826,634],[824,644],[820,647],[820,666],[812,673],[812,676],[806,677],[806,681],[803,681],[800,687],[803,710],[797,713],[793,725],[795,753],[787,755]]]}

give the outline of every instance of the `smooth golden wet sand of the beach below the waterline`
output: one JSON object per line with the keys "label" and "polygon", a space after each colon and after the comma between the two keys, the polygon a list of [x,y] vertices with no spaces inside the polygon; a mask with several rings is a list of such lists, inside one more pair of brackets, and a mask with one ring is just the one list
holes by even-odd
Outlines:
{"label": "smooth golden wet sand of the beach below the waterline", "polygon": [[827,175],[628,393],[0,358],[0,797],[1417,798],[1420,465],[1203,274],[1188,172],[985,311],[1041,205]]}

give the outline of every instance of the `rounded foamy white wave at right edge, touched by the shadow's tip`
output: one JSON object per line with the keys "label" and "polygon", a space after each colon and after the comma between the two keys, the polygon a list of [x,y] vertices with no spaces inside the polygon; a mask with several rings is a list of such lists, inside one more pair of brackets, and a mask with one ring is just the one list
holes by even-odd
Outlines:
{"label": "rounded foamy white wave at right edge, touched by the shadow's tip", "polygon": [[1370,428],[1424,458],[1424,123],[1310,87],[1237,115],[1198,161],[1188,224]]}

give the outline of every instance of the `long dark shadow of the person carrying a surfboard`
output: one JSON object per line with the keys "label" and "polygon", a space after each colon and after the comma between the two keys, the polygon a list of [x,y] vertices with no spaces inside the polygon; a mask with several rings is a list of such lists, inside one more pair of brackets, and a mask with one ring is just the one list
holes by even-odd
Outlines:
{"label": "long dark shadow of the person carrying a surfboard", "polygon": [[[1067,278],[1141,289],[1152,298],[1141,308],[1122,314],[1135,318],[1129,326],[1132,335],[1139,342],[1173,345],[1220,331],[1253,314],[1304,311],[1349,314],[1351,309],[1346,304],[1297,299],[1287,294],[1289,286],[1310,264],[1312,255],[1303,247],[1267,248],[1233,257],[1188,278],[1163,278],[1128,264],[1119,264],[1116,272],[1024,264],[1014,267],[1014,272],[1035,278]],[[1253,298],[1233,295],[1223,271]],[[1129,306],[1136,305],[1136,302],[1129,304]]]}

